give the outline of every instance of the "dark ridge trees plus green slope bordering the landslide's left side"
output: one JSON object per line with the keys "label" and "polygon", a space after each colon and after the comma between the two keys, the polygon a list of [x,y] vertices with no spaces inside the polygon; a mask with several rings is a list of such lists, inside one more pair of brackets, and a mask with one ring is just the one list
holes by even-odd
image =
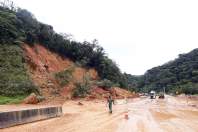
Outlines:
{"label": "dark ridge trees plus green slope bordering the landslide's left side", "polygon": [[[74,41],[67,34],[58,34],[52,26],[37,21],[29,11],[14,7],[13,2],[9,3],[8,1],[8,3],[0,4],[0,45],[2,50],[0,54],[0,94],[11,95],[10,91],[13,89],[15,92],[12,94],[29,93],[35,90],[28,75],[25,74],[24,58],[21,53],[22,43],[32,46],[41,44],[62,57],[70,58],[82,67],[95,68],[101,80],[108,80],[113,85],[127,88],[124,74],[121,73],[116,63],[106,55],[104,49],[98,45],[97,40],[92,42]],[[18,59],[14,60],[14,56],[18,56]],[[19,70],[20,68],[21,70]],[[17,71],[18,75],[15,76]],[[26,86],[28,86],[28,90],[21,90]]]}

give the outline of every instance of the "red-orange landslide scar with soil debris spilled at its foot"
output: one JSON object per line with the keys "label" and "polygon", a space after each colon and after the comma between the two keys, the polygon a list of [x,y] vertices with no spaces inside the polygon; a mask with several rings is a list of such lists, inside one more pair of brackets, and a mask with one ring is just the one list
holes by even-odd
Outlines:
{"label": "red-orange landslide scar with soil debris spilled at its foot", "polygon": [[[82,83],[85,76],[89,76],[90,82],[97,82],[100,79],[95,69],[80,67],[70,59],[61,57],[40,44],[34,46],[23,44],[22,47],[28,73],[47,101],[71,99],[76,88],[75,84]],[[66,78],[62,78],[65,83],[57,77],[60,73],[68,74]],[[110,94],[115,98],[135,96],[118,87],[106,89],[92,83],[90,88],[87,99],[104,99]]]}

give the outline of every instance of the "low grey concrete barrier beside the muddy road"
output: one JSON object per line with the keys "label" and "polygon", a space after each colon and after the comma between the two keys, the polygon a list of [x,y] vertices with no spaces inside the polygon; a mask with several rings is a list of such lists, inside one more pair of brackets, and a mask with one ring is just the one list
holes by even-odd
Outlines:
{"label": "low grey concrete barrier beside the muddy road", "polygon": [[46,107],[19,111],[0,112],[0,128],[30,123],[62,115],[62,107]]}

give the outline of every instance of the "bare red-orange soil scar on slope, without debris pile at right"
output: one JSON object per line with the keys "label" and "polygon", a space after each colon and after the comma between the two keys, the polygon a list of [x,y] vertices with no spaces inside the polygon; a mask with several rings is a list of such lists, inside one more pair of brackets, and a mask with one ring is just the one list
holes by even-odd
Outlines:
{"label": "bare red-orange soil scar on slope, without debris pile at right", "polygon": [[[92,80],[98,79],[96,70],[78,67],[71,60],[63,58],[39,44],[32,47],[24,44],[23,50],[29,74],[47,102],[63,98],[70,99],[74,88],[73,83],[81,82],[85,74],[89,74]],[[71,67],[74,70],[69,84],[61,86],[56,80],[55,74]]]}

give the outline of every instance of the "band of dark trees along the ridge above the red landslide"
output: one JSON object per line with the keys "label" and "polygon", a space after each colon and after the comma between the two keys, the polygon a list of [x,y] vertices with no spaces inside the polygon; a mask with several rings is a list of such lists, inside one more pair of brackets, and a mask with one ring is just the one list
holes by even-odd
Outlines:
{"label": "band of dark trees along the ridge above the red landslide", "polygon": [[58,34],[52,26],[37,21],[33,14],[24,9],[11,10],[9,7],[0,7],[0,11],[1,44],[20,46],[21,42],[30,45],[40,43],[62,57],[67,57],[82,66],[95,68],[102,79],[126,87],[119,67],[108,58],[97,40],[71,40],[67,34]]}

